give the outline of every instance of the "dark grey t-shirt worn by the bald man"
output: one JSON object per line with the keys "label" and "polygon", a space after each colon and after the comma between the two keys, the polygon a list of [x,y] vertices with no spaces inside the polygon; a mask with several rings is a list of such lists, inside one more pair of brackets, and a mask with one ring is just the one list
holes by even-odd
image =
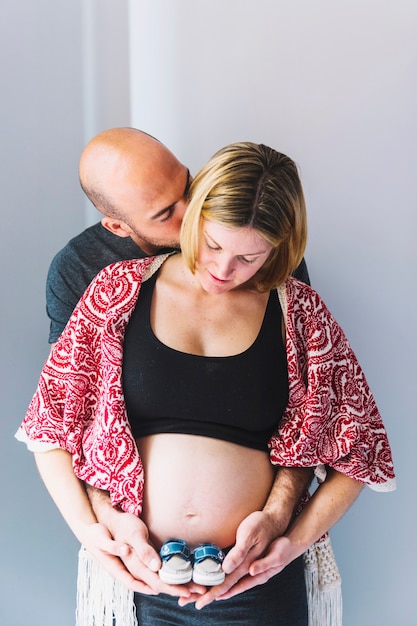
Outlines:
{"label": "dark grey t-shirt worn by the bald man", "polygon": [[[130,237],[118,237],[98,222],[71,239],[52,259],[46,279],[46,312],[50,323],[49,343],[57,341],[78,300],[93,278],[116,261],[147,256]],[[294,272],[310,284],[304,259]]]}

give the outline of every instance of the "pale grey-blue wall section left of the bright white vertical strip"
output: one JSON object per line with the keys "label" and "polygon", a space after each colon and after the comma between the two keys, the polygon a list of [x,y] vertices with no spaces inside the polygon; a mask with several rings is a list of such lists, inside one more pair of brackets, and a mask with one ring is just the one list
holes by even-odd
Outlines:
{"label": "pale grey-blue wall section left of the bright white vertical strip", "polygon": [[49,351],[45,279],[88,216],[78,160],[129,125],[127,0],[0,2],[0,625],[74,626],[78,543],[14,440]]}

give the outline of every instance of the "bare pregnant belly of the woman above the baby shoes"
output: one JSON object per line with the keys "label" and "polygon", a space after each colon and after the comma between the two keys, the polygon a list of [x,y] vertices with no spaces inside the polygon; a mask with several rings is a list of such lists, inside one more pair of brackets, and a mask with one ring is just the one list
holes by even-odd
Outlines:
{"label": "bare pregnant belly of the woman above the baby shoes", "polygon": [[145,471],[141,517],[157,548],[172,537],[191,548],[232,545],[275,478],[268,453],[218,439],[161,433],[137,444]]}

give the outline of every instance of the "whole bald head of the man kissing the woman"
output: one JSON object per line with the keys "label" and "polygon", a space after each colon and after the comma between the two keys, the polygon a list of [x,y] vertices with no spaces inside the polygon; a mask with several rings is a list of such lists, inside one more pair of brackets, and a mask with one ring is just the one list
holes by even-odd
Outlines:
{"label": "whole bald head of the man kissing the woman", "polygon": [[149,254],[178,246],[189,174],[160,141],[134,128],[106,130],[83,150],[79,176],[106,228]]}

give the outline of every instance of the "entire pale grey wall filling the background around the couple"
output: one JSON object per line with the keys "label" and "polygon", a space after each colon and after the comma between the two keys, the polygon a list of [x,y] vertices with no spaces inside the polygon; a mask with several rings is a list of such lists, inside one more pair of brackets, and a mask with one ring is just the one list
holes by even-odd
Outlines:
{"label": "entire pale grey wall filling the background around the couple", "polygon": [[0,35],[0,624],[74,624],[77,542],[13,433],[48,350],[50,259],[96,219],[79,154],[131,123],[194,172],[242,139],[299,163],[311,278],[364,366],[398,475],[332,533],[344,626],[415,626],[415,1],[20,0],[0,5]]}

